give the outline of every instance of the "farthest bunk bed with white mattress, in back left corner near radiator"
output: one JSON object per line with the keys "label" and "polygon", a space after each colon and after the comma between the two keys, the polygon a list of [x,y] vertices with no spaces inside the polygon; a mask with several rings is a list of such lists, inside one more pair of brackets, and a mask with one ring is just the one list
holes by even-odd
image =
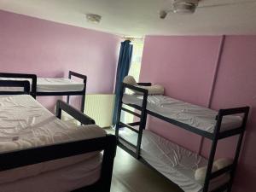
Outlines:
{"label": "farthest bunk bed with white mattress, in back left corner near radiator", "polygon": [[[75,81],[72,78],[83,81]],[[87,77],[83,74],[69,71],[68,79],[66,79],[38,78],[35,74],[25,73],[0,73],[0,80],[28,80],[31,84],[30,93],[34,98],[36,96],[67,96],[67,103],[69,103],[70,96],[82,96],[80,110],[84,112]],[[14,89],[9,88],[9,90]]]}

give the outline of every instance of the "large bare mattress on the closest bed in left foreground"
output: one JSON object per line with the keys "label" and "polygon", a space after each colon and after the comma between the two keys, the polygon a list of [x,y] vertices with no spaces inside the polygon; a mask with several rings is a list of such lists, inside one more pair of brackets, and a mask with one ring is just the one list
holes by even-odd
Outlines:
{"label": "large bare mattress on the closest bed in left foreground", "polygon": [[[97,125],[67,125],[32,96],[0,96],[0,154],[104,136],[106,132]],[[0,172],[0,183],[85,162],[99,153],[79,154],[3,171]]]}

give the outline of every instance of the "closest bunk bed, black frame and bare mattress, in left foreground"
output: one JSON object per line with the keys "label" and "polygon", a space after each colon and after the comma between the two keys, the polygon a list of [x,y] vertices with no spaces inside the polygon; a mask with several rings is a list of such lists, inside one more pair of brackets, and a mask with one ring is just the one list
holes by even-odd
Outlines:
{"label": "closest bunk bed, black frame and bare mattress, in left foreground", "polygon": [[[58,101],[56,116],[32,96],[28,81],[0,81],[1,191],[109,192],[116,137],[66,102]],[[61,112],[83,125],[68,125]]]}

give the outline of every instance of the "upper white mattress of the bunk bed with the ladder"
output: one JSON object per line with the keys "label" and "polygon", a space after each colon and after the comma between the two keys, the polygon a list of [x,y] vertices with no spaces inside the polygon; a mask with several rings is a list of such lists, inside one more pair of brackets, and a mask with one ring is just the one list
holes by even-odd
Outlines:
{"label": "upper white mattress of the bunk bed with the ladder", "polygon": [[[135,104],[142,106],[143,96],[124,95],[125,104]],[[210,108],[203,108],[173,99],[168,96],[148,96],[147,109],[151,112],[158,113],[169,119],[174,119],[186,125],[193,126],[201,131],[213,133],[216,125],[217,111]],[[224,116],[220,131],[227,131],[241,126],[241,116],[229,115]]]}

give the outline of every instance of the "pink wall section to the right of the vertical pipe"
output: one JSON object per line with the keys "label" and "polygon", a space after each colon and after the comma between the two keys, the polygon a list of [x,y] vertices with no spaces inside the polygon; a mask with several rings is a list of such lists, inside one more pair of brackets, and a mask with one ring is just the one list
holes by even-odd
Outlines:
{"label": "pink wall section to the right of the vertical pipe", "polygon": [[[228,36],[219,67],[212,108],[251,107],[236,191],[255,191],[256,181],[256,36]],[[234,141],[220,143],[218,156],[228,154]],[[205,148],[207,149],[207,148]],[[206,151],[204,151],[206,152]]]}

